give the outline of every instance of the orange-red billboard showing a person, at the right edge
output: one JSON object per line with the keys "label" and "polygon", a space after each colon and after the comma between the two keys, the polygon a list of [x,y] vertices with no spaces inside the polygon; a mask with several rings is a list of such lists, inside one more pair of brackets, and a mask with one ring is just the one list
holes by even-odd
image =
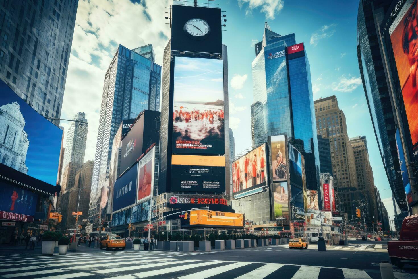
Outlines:
{"label": "orange-red billboard showing a person, at the right edge", "polygon": [[[418,84],[416,48],[418,43],[417,0],[404,1],[389,28],[390,41],[408,119],[413,156],[418,156]],[[400,3],[400,2],[399,2]],[[399,7],[397,7],[399,8]]]}

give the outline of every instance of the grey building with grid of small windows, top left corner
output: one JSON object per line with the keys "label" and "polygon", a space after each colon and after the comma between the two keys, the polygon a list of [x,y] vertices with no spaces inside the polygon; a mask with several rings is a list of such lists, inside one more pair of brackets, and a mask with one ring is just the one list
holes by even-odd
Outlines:
{"label": "grey building with grid of small windows, top left corner", "polygon": [[46,117],[61,115],[77,7],[78,0],[0,5],[0,78]]}

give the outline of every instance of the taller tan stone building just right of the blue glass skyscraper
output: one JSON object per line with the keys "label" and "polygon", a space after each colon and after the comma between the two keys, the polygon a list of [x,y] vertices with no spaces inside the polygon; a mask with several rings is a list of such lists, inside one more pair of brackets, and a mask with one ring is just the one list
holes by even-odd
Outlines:
{"label": "taller tan stone building just right of the blue glass skyscraper", "polygon": [[357,189],[356,167],[353,148],[347,135],[344,112],[339,109],[335,95],[315,100],[316,129],[323,138],[329,139],[332,173],[338,179],[338,190]]}

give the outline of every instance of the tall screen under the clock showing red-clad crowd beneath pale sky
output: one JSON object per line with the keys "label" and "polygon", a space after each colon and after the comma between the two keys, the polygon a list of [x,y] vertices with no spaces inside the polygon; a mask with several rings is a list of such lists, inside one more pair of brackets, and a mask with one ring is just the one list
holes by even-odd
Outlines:
{"label": "tall screen under the clock showing red-clad crowd beneath pale sky", "polygon": [[175,57],[173,153],[224,154],[224,139],[222,60]]}

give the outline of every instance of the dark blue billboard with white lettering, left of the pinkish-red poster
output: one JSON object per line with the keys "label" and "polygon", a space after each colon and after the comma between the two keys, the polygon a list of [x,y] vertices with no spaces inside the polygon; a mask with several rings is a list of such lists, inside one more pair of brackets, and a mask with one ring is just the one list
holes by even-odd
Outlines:
{"label": "dark blue billboard with white lettering, left of the pinkish-red poster", "polygon": [[138,180],[138,166],[133,166],[115,181],[112,212],[133,205]]}

